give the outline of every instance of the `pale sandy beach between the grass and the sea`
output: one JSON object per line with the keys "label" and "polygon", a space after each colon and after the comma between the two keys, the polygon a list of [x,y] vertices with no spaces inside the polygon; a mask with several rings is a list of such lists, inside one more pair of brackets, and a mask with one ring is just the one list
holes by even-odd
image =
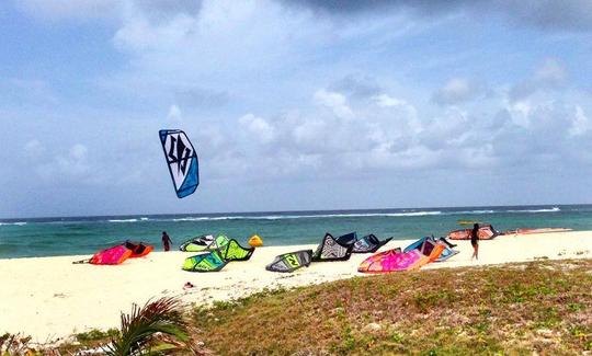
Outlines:
{"label": "pale sandy beach between the grass and the sea", "polygon": [[[405,248],[414,240],[394,241],[383,249]],[[455,242],[456,243],[456,242]],[[424,268],[500,264],[548,259],[592,257],[592,231],[505,236],[481,241],[480,260],[470,261],[468,241],[459,254]],[[263,288],[292,287],[363,275],[357,265],[368,254],[346,262],[314,263],[293,274],[266,272],[277,254],[316,245],[260,248],[248,262],[231,262],[218,273],[182,271],[183,252],[151,253],[118,266],[72,265],[88,256],[0,260],[0,334],[22,332],[37,342],[54,341],[90,329],[117,328],[119,312],[133,302],[181,295],[187,302],[240,297]],[[195,288],[183,289],[191,282]]]}

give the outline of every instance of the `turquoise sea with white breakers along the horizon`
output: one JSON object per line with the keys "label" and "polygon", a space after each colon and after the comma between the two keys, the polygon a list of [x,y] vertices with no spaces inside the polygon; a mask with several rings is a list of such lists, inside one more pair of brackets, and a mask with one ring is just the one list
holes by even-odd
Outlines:
{"label": "turquoise sea with white breakers along the horizon", "polygon": [[153,243],[160,250],[162,231],[174,246],[208,233],[225,233],[242,243],[258,233],[266,245],[316,243],[325,232],[412,239],[445,236],[462,228],[457,220],[489,222],[498,230],[592,230],[592,205],[12,219],[0,220],[0,259],[91,254],[126,239]]}

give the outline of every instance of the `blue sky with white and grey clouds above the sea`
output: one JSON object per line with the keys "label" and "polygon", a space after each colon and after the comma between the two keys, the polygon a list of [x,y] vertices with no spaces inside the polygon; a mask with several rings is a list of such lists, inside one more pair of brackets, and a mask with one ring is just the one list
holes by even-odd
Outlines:
{"label": "blue sky with white and grey clouds above the sea", "polygon": [[588,0],[2,1],[0,217],[590,204],[591,64]]}

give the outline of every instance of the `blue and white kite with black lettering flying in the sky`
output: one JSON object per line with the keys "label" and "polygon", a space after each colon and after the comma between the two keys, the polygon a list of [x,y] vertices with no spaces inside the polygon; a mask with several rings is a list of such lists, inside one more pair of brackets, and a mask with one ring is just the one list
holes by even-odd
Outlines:
{"label": "blue and white kite with black lettering flying in the sky", "polygon": [[187,135],[179,129],[161,129],[158,134],[177,196],[193,194],[200,185],[200,168]]}

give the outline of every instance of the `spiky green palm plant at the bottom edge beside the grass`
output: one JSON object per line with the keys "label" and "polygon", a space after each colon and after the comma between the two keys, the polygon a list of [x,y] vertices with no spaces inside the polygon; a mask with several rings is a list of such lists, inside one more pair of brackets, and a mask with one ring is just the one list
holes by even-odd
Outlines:
{"label": "spiky green palm plant at the bottom edge beside the grass", "polygon": [[134,305],[130,314],[122,313],[122,330],[105,347],[111,356],[171,354],[193,351],[189,324],[177,298],[149,301],[143,308]]}

